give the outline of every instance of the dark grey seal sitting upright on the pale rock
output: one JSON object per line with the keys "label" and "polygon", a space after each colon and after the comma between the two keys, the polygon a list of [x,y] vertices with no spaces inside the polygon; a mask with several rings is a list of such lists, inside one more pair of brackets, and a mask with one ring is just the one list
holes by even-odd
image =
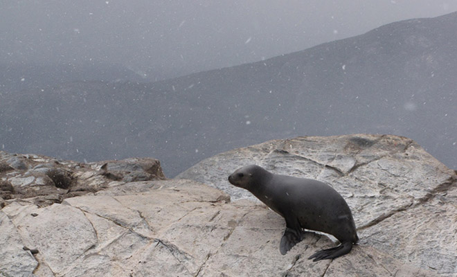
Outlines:
{"label": "dark grey seal sitting upright on the pale rock", "polygon": [[333,259],[350,252],[359,238],[346,201],[328,184],[313,179],[277,175],[260,166],[244,166],[228,177],[233,186],[245,188],[286,221],[279,250],[285,255],[303,240],[309,229],[334,235],[338,247],[317,251],[309,259]]}

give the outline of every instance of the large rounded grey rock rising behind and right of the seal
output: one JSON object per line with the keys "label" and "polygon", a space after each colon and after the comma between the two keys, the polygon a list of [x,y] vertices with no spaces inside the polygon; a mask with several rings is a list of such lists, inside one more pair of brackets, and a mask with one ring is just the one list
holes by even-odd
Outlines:
{"label": "large rounded grey rock rising behind and right of the seal", "polygon": [[361,245],[442,276],[457,274],[456,172],[411,139],[358,134],[268,141],[218,154],[177,178],[257,201],[226,181],[251,163],[333,186],[352,210]]}

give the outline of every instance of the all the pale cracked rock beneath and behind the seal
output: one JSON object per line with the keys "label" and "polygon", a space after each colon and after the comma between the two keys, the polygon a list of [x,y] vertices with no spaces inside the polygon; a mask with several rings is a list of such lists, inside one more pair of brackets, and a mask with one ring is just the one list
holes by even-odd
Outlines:
{"label": "all the pale cracked rock beneath and behind the seal", "polygon": [[[12,170],[11,161],[1,160],[2,180],[11,185],[3,191],[16,190],[10,176],[26,178],[31,168],[26,155],[16,157],[25,168]],[[101,189],[52,205],[36,197],[7,199],[0,211],[0,276],[457,275],[456,173],[406,138],[269,141],[202,161],[180,175],[187,179],[129,179],[134,169],[154,175],[138,160],[93,163],[91,170],[60,163],[55,170]],[[242,199],[249,195],[226,181],[248,163],[334,186],[352,209],[359,245],[341,258],[312,262],[308,256],[334,241],[309,233],[280,255],[283,218]]]}

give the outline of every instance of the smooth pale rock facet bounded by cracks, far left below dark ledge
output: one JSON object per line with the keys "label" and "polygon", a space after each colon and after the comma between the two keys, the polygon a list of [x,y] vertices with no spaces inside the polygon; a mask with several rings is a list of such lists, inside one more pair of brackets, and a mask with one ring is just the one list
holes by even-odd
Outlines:
{"label": "smooth pale rock facet bounded by cracks, far left below dark ledge", "polygon": [[37,249],[38,260],[46,260],[54,274],[64,273],[67,265],[96,244],[93,227],[78,208],[53,204],[39,209],[11,204],[2,211],[12,218],[24,244]]}

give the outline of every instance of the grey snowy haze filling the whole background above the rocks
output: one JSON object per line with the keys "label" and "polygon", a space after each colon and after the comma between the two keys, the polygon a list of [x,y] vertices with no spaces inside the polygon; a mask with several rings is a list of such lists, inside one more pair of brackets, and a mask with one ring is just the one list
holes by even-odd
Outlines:
{"label": "grey snowy haze filling the whole background above the rocks", "polygon": [[0,150],[154,157],[172,177],[269,139],[377,133],[456,168],[455,11],[436,0],[0,0]]}

